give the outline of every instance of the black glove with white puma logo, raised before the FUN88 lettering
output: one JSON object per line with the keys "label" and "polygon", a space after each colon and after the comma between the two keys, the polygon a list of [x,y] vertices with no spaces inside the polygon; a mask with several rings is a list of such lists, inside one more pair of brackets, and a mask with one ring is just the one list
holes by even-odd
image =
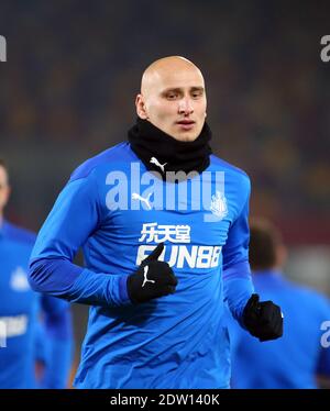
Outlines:
{"label": "black glove with white puma logo, raised before the FUN88 lettering", "polygon": [[138,270],[128,277],[128,292],[132,302],[139,303],[170,295],[175,291],[177,278],[167,263],[158,262],[164,243],[147,256]]}

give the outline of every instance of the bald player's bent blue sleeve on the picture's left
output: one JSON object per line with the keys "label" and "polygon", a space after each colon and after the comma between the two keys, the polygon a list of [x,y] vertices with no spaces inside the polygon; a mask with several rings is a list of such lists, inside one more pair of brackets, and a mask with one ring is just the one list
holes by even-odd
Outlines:
{"label": "bald player's bent blue sleeve on the picture's left", "polygon": [[94,273],[73,259],[101,222],[100,201],[94,173],[70,180],[36,238],[29,281],[35,291],[73,302],[121,306],[129,302],[125,276]]}

